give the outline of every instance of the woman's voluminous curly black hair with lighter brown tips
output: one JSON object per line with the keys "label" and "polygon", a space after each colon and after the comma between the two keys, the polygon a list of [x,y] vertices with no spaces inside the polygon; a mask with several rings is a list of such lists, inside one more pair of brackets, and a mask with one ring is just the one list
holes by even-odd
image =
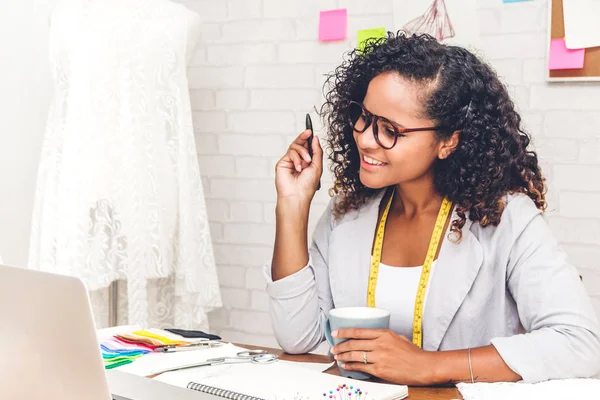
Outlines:
{"label": "woman's voluminous curly black hair with lighter brown tips", "polygon": [[335,176],[330,194],[339,197],[336,216],[379,192],[360,182],[348,106],[351,100],[362,102],[369,82],[385,72],[423,83],[423,116],[446,127],[437,132],[439,139],[460,130],[455,151],[434,165],[437,191],[456,205],[459,218],[452,221],[451,232],[458,240],[467,214],[482,226],[498,225],[508,193],[525,193],[545,210],[545,179],[537,155],[528,149],[530,136],[496,72],[462,47],[400,31],[347,53],[325,82],[320,115],[329,128],[328,158]]}

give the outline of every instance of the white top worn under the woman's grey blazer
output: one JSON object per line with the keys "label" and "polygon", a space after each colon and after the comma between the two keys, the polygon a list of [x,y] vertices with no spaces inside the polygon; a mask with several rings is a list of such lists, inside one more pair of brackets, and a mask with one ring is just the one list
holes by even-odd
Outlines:
{"label": "white top worn under the woman's grey blazer", "polygon": [[[435,271],[436,261],[431,264],[429,281]],[[390,330],[398,335],[406,336],[409,340],[412,340],[415,299],[422,269],[423,266],[391,267],[384,263],[379,264],[375,304],[377,308],[383,308],[390,312]],[[423,309],[427,304],[428,293],[429,285],[425,290]]]}

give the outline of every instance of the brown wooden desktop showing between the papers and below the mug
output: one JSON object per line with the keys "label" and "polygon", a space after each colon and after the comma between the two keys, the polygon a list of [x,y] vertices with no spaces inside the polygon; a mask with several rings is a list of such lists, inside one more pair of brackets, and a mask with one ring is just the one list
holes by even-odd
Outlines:
{"label": "brown wooden desktop showing between the papers and below the mug", "polygon": [[[318,354],[302,354],[292,355],[284,353],[281,350],[271,349],[260,346],[250,346],[246,344],[236,344],[236,346],[244,347],[247,349],[265,349],[269,353],[279,355],[282,360],[288,361],[300,361],[300,362],[317,362],[317,363],[331,363],[334,361],[329,356],[322,356]],[[325,371],[328,374],[339,375],[337,366],[334,364],[331,368]],[[408,400],[451,400],[451,399],[462,399],[460,392],[455,387],[451,388],[434,388],[434,387],[409,387],[408,388]]]}

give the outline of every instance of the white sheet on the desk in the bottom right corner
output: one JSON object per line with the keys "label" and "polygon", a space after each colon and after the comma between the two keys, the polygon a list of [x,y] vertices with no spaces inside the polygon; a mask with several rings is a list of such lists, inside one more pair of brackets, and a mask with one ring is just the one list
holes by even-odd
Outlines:
{"label": "white sheet on the desk in the bottom right corner", "polygon": [[564,379],[540,383],[459,383],[465,400],[598,400],[600,380]]}

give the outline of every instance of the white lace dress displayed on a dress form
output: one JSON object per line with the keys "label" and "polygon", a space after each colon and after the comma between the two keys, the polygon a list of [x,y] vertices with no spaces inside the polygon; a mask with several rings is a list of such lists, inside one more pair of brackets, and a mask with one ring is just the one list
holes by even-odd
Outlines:
{"label": "white lace dress displayed on a dress form", "polygon": [[208,329],[221,306],[186,77],[198,27],[167,0],[52,15],[29,264],[83,279],[100,326],[117,279],[120,323]]}

